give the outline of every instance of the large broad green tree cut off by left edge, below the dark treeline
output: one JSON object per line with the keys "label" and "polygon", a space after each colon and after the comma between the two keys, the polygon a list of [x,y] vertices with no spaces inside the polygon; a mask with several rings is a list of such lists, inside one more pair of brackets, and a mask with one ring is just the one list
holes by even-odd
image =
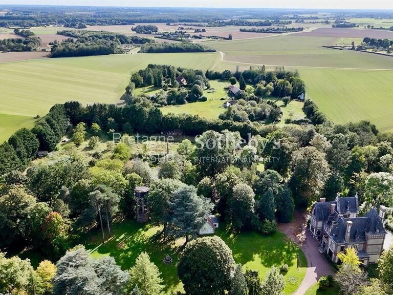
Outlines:
{"label": "large broad green tree cut off by left edge, below the dark treeline", "polygon": [[30,212],[36,199],[20,185],[11,185],[5,195],[0,196],[0,245],[28,238]]}

